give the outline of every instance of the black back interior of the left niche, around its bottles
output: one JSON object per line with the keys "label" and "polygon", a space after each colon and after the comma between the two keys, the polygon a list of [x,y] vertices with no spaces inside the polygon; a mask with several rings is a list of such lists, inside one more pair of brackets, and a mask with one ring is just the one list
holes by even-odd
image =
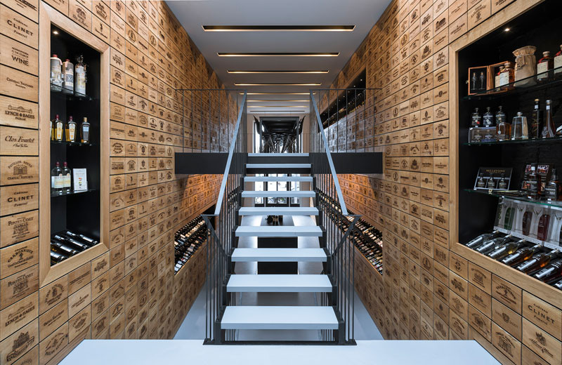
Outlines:
{"label": "black back interior of the left niche, around its bottles", "polygon": [[[51,140],[51,165],[86,168],[88,190],[74,192],[74,180],[69,194],[51,193],[51,234],[63,230],[84,234],[99,241],[100,237],[100,53],[70,34],[51,26],[51,55],[56,54],[65,62],[76,65],[78,55],[86,64],[86,95],[68,95],[51,90],[53,121],[58,114],[66,124],[70,116],[77,123],[77,130],[84,117],[90,123],[90,142],[87,144],[56,142]],[[107,95],[105,95],[107,97]],[[79,133],[77,133],[79,140]]]}

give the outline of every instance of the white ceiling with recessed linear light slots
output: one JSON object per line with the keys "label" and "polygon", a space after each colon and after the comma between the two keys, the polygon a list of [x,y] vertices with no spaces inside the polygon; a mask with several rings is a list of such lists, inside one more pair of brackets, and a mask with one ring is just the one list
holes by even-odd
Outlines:
{"label": "white ceiling with recessed linear light slots", "polygon": [[[308,93],[329,88],[391,0],[166,1],[226,88],[248,93]],[[352,32],[204,32],[203,25],[355,25]],[[336,57],[219,57],[217,53],[314,52]],[[329,70],[327,74],[229,74],[228,70]],[[320,86],[235,86],[321,84]],[[308,95],[249,95],[252,114],[303,114]],[[306,101],[298,101],[306,100]],[[252,108],[251,105],[265,107]],[[292,106],[287,108],[287,106]]]}

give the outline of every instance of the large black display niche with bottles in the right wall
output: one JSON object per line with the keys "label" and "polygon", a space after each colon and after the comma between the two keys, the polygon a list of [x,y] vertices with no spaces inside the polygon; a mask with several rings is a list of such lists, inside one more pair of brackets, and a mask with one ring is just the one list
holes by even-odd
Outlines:
{"label": "large black display niche with bottles in the right wall", "polygon": [[459,51],[459,243],[562,288],[562,58],[543,58],[561,51],[553,5]]}

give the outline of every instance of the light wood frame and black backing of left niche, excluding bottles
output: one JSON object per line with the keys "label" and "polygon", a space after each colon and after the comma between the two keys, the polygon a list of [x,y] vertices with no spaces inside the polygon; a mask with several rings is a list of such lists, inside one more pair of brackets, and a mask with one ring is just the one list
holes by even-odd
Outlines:
{"label": "light wood frame and black backing of left niche, excluding bottles", "polygon": [[[109,251],[109,138],[110,138],[110,46],[98,37],[59,13],[54,8],[40,2],[39,11],[39,286],[62,277],[77,267],[88,263]],[[62,41],[53,41],[53,29],[67,37],[67,47],[84,44],[84,49],[96,55],[92,67],[86,75],[87,96],[53,95],[51,91],[51,47],[65,48]],[[74,43],[73,43],[74,42]],[[70,54],[70,49],[65,50]],[[79,50],[81,51],[81,50]],[[77,51],[77,52],[79,52]],[[62,54],[60,58],[67,58]],[[71,60],[74,63],[74,60]],[[85,60],[86,65],[89,63]],[[91,86],[91,91],[89,91]],[[79,95],[81,96],[81,95]],[[84,101],[86,100],[86,101]],[[93,100],[93,101],[92,101]],[[85,104],[85,102],[91,102]],[[93,102],[93,104],[92,104]],[[89,117],[90,143],[51,142],[51,124],[60,107],[62,114],[78,114],[74,121],[79,128],[82,117]],[[88,110],[88,108],[92,108]],[[68,115],[61,117],[66,122]],[[79,133],[78,133],[79,135]],[[51,168],[53,160],[68,159],[69,167],[86,168],[88,191],[57,197],[51,194]],[[75,166],[71,165],[74,161]],[[61,167],[63,163],[61,162]],[[72,181],[74,185],[74,181]],[[79,215],[81,215],[81,220]],[[72,230],[75,233],[98,240],[100,243],[84,251],[71,255],[60,263],[51,265],[51,234],[54,231]]]}

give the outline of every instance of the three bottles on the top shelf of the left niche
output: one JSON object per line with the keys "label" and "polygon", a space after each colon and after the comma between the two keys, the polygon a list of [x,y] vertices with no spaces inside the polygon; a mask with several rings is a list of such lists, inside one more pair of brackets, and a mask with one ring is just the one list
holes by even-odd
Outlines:
{"label": "three bottles on the top shelf of the left niche", "polygon": [[68,58],[62,62],[57,55],[51,57],[51,91],[86,95],[87,78],[84,56],[77,56],[76,62],[76,67],[74,67]]}

